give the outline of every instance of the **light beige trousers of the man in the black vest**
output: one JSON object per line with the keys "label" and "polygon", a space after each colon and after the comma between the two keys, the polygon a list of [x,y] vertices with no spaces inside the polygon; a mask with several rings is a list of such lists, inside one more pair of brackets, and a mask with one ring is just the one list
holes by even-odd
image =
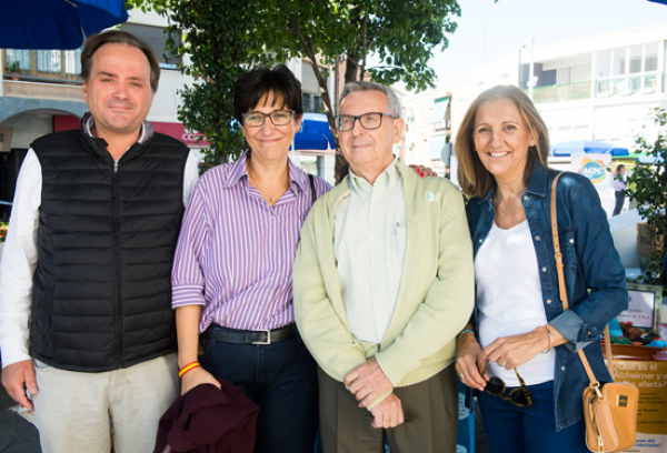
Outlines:
{"label": "light beige trousers of the man in the black vest", "polygon": [[179,394],[176,353],[103,373],[79,373],[34,362],[32,396],[42,452],[148,453],[158,422]]}

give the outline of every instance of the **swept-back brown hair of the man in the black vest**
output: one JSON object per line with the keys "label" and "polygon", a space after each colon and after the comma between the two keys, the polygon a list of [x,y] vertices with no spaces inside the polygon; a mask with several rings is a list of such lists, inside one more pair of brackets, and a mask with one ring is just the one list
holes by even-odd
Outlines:
{"label": "swept-back brown hair of the man in the black vest", "polygon": [[101,33],[93,34],[86,41],[83,51],[81,51],[81,79],[88,82],[90,78],[90,71],[92,70],[92,56],[104,44],[127,44],[139,49],[150,64],[150,88],[155,93],[158,91],[158,84],[160,83],[160,62],[156,52],[136,36],[128,33],[123,30],[109,30]]}

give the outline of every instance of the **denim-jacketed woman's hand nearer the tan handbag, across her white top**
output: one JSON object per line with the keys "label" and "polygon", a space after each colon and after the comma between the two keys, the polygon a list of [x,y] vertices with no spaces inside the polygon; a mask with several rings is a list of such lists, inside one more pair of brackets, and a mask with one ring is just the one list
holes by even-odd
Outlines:
{"label": "denim-jacketed woman's hand nearer the tan handbag, across her white top", "polygon": [[[555,329],[550,329],[555,333]],[[559,340],[563,340],[563,336]],[[544,326],[519,335],[500,336],[487,345],[481,354],[484,361],[496,362],[498,366],[514,370],[549,346],[563,344],[565,341],[552,341]]]}

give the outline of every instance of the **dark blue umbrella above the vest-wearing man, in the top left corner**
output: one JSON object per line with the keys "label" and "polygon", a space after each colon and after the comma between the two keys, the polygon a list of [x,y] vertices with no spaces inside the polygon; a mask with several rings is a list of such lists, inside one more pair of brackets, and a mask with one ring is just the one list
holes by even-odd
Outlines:
{"label": "dark blue umbrella above the vest-wearing man, in the top left corner", "polygon": [[128,20],[122,0],[0,0],[2,49],[78,49]]}

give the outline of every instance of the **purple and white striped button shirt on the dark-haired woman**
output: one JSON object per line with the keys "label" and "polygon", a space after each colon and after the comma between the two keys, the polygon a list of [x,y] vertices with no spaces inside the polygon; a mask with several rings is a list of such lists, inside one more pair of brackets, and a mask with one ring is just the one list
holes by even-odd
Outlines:
{"label": "purple and white striped button shirt on the dark-haired woman", "polygon": [[[181,226],[171,272],[172,306],[203,305],[211,323],[242,330],[295,321],[292,264],[312,205],[308,174],[288,160],[290,188],[271,208],[248,183],[247,154],[208,170]],[[331,187],[315,178],[317,197]]]}

